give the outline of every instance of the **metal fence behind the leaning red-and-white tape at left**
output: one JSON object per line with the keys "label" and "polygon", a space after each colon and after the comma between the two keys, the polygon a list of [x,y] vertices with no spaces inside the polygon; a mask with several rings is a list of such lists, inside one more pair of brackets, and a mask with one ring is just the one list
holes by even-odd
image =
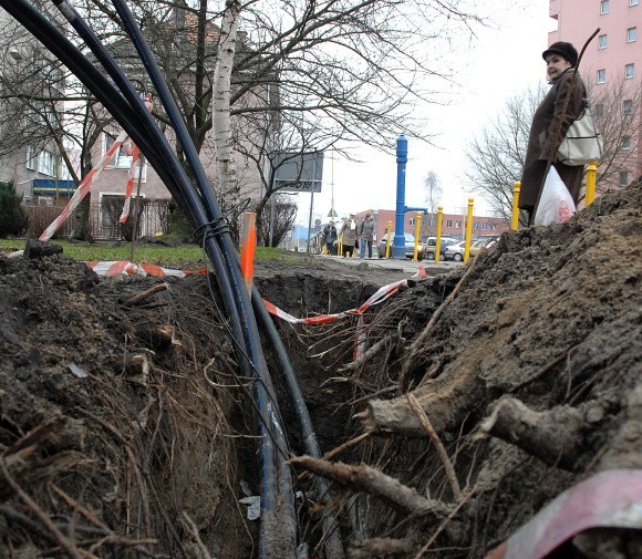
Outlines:
{"label": "metal fence behind the leaning red-and-white tape at left", "polygon": [[[112,198],[112,197],[110,197]],[[66,201],[66,200],[65,200]],[[118,217],[123,208],[123,200],[114,204],[90,204],[89,229],[96,240],[131,240],[134,224],[134,200],[132,200],[131,214],[126,224],[120,224]],[[154,236],[158,232],[166,234],[169,229],[169,204],[170,200],[143,199],[138,208],[138,221],[136,238]],[[62,213],[64,205],[27,205],[24,209],[29,216],[28,236],[38,238],[42,231]],[[55,232],[54,238],[65,238],[73,235],[76,226],[76,216],[72,214]]]}

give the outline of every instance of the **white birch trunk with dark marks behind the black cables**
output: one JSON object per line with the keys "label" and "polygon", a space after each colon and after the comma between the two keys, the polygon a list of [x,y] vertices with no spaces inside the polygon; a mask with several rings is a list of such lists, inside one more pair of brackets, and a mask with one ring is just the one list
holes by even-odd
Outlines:
{"label": "white birch trunk with dark marks behind the black cables", "polygon": [[213,136],[216,152],[216,172],[224,211],[239,203],[239,186],[234,159],[230,121],[230,82],[240,1],[226,0],[220,41],[214,70]]}

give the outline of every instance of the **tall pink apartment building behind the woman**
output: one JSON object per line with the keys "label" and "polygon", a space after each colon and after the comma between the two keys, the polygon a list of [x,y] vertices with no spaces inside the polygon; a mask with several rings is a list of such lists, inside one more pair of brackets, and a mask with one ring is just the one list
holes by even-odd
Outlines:
{"label": "tall pink apartment building behind the woman", "polygon": [[[642,6],[639,0],[550,0],[556,41],[581,50],[598,28],[580,62],[592,112],[611,145],[598,169],[599,190],[623,187],[642,175]],[[640,33],[640,37],[639,37]]]}

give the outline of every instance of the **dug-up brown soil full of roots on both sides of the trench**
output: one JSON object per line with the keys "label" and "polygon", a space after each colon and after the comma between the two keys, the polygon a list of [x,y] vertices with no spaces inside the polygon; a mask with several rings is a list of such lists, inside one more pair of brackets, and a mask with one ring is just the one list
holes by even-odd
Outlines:
{"label": "dug-up brown soil full of roots on both sides of the trench", "polygon": [[[362,320],[277,323],[325,453],[301,457],[272,365],[301,557],[323,556],[310,473],[330,480],[346,556],[480,559],[565,489],[642,466],[641,208],[634,184]],[[257,269],[296,317],[404,277],[308,257]],[[219,308],[204,276],[0,257],[0,557],[257,557],[239,503],[258,493],[249,381]],[[642,557],[634,530],[565,546],[555,557]]]}

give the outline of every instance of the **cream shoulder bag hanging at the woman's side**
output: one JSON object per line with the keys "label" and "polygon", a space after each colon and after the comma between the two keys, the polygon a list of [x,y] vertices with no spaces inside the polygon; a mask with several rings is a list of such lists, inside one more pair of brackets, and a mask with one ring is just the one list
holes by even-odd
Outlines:
{"label": "cream shoulder bag hanging at the woman's side", "polygon": [[598,132],[584,97],[582,114],[574,120],[561,141],[557,158],[570,166],[588,165],[602,158],[602,135]]}

